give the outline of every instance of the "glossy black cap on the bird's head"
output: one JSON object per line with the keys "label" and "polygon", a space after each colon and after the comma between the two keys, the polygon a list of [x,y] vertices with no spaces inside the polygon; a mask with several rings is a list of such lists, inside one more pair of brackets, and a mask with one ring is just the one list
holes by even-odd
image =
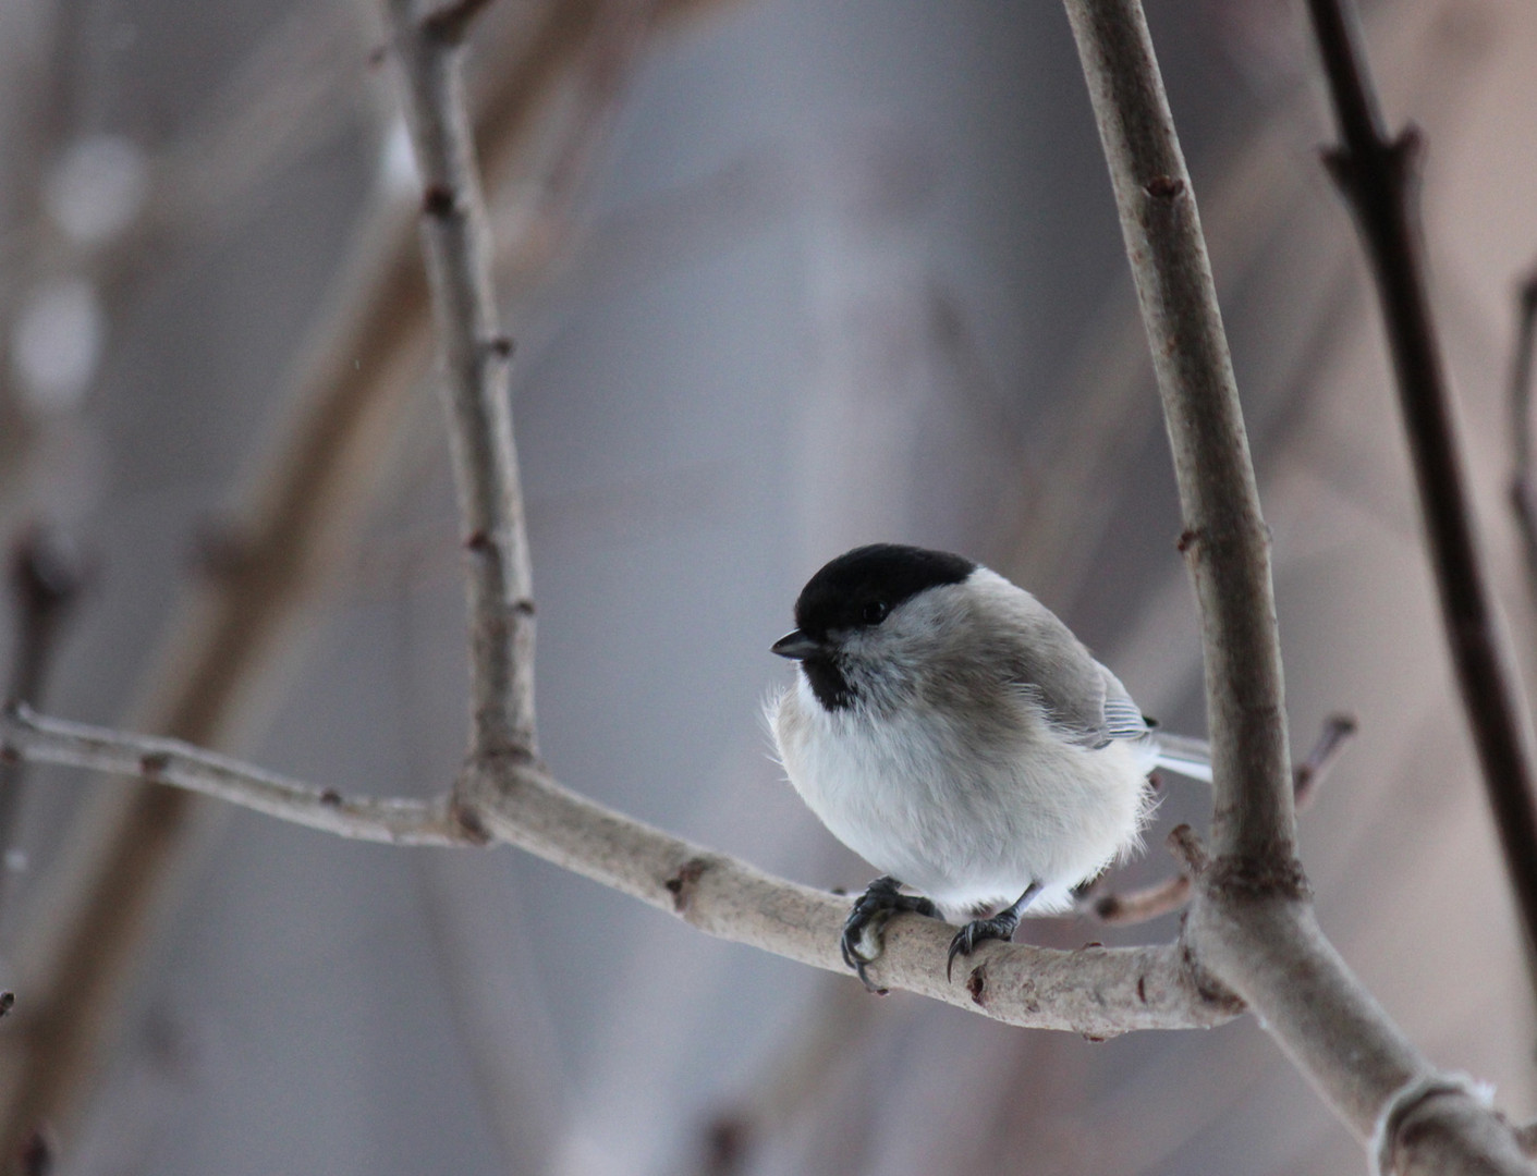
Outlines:
{"label": "glossy black cap on the bird's head", "polygon": [[795,624],[825,639],[832,629],[876,624],[902,601],[941,584],[959,584],[976,570],[962,555],[873,543],[825,564],[795,603]]}

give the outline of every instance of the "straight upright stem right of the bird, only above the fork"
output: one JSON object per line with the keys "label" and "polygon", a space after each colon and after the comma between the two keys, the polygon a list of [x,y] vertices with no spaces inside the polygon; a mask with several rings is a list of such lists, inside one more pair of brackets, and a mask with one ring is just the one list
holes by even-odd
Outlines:
{"label": "straight upright stem right of the bird, only above the fork", "polygon": [[1290,859],[1291,770],[1270,540],[1233,361],[1142,9],[1068,0],[1174,450],[1205,635],[1219,855]]}

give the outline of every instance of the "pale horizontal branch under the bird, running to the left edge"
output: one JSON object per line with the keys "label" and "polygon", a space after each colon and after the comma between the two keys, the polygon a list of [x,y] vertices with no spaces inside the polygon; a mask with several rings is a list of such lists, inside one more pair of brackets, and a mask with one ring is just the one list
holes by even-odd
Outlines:
{"label": "pale horizontal branch under the bird, running to the left edge", "polygon": [[[709,935],[847,973],[838,935],[848,901],[773,878],[742,861],[675,838],[561,787],[532,766],[503,761],[496,796],[470,813],[467,832],[449,801],[343,799],[329,789],[284,779],[175,739],[157,739],[0,712],[9,753],[172,784],[341,836],[409,845],[504,841],[546,861],[633,895]],[[1205,982],[1183,945],[1061,952],[990,945],[968,984],[945,981],[954,933],[938,919],[901,918],[870,965],[890,988],[907,988],[998,1021],[1107,1038],[1137,1028],[1199,1028],[1242,1012]],[[850,981],[853,982],[853,981]]]}

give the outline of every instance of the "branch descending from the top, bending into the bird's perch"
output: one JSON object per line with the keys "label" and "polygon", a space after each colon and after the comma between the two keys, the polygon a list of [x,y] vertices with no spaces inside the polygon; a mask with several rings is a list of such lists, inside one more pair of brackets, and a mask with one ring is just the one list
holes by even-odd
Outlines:
{"label": "branch descending from the top, bending into the bird's perch", "polygon": [[[842,970],[836,952],[844,918],[839,899],[792,887],[621,816],[567,792],[533,766],[533,607],[506,395],[512,347],[496,334],[490,240],[458,72],[463,26],[455,20],[444,31],[435,18],[418,20],[412,0],[390,0],[389,14],[424,184],[423,241],[446,367],[460,509],[469,532],[475,721],[470,766],[460,784],[466,813],[498,839],[672,907],[713,935]],[[938,948],[947,932],[933,924],[910,927],[907,935],[931,941],[925,948]],[[936,968],[918,967],[911,953],[893,955],[893,947],[888,944],[882,956],[881,984],[951,1002],[967,999],[967,993],[941,981]],[[990,958],[973,968],[968,996],[979,1008],[1013,1019],[1022,1008],[1036,1008],[1031,1016],[1039,1016],[1047,1002],[1044,992],[1062,993],[1073,1010],[1068,1019],[1093,1036],[1130,1027],[1124,1018],[1142,1016],[1140,1010],[1159,1002],[1157,995],[1174,999],[1180,1016],[1188,1016],[1193,988],[1179,970],[1177,953],[1157,948],[1147,959],[1134,958],[1134,976],[1125,970],[1104,976],[1097,968],[1079,975],[1076,964],[1019,973]],[[1173,975],[1160,972],[1167,965],[1174,967]],[[1081,1005],[1076,1001],[1085,982],[1094,998]],[[1099,1012],[1091,1015],[1090,1007]],[[1048,1016],[1059,1015],[1053,1010]],[[1081,1027],[1077,1022],[1090,1015],[1100,1024]]]}

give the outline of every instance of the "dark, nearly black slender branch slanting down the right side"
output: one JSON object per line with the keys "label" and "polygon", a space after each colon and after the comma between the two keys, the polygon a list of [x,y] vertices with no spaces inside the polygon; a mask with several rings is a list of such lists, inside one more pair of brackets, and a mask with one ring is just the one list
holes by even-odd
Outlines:
{"label": "dark, nearly black slender branch slanting down the right side", "polygon": [[[1537,755],[1515,661],[1496,613],[1431,312],[1419,212],[1420,135],[1393,137],[1356,9],[1308,0],[1340,143],[1325,160],[1371,260],[1414,461],[1442,621],[1529,950],[1537,950]],[[1520,432],[1520,430],[1517,430]]]}

